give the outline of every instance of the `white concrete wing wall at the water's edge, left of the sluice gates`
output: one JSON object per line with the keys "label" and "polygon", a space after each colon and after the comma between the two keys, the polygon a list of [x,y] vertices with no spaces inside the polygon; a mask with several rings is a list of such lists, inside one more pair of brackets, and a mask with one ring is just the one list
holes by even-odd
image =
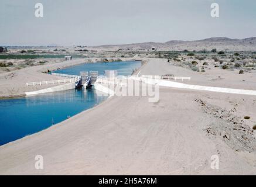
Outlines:
{"label": "white concrete wing wall at the water's edge, left of the sluice gates", "polygon": [[33,92],[25,92],[25,94],[29,96],[29,95],[37,95],[40,93],[58,92],[58,91],[64,91],[68,89],[75,89],[75,88],[76,88],[76,82],[71,82],[69,84],[54,86],[52,88],[40,89],[38,91],[33,91]]}

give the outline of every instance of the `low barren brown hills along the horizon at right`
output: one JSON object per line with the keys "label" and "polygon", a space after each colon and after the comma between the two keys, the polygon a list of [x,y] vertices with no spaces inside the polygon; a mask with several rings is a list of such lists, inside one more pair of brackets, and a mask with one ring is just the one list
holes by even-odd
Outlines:
{"label": "low barren brown hills along the horizon at right", "polygon": [[211,37],[209,39],[195,40],[195,41],[182,41],[171,40],[165,43],[146,42],[134,43],[123,45],[105,45],[97,46],[94,48],[101,50],[150,50],[151,47],[156,47],[158,50],[211,50],[217,49],[218,51],[256,51],[256,37],[246,39],[230,39],[227,37]]}

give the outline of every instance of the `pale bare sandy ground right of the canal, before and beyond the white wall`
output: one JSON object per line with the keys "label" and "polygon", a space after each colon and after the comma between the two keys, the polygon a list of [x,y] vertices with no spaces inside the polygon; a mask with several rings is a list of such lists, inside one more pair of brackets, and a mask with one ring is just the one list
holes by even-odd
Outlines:
{"label": "pale bare sandy ground right of the canal, before and beyond the white wall", "polygon": [[[141,74],[171,73],[166,68],[152,59]],[[185,89],[161,88],[157,103],[113,96],[1,146],[0,174],[255,174],[255,110],[253,96]],[[35,169],[35,155],[44,169]],[[211,155],[220,169],[210,168]]]}

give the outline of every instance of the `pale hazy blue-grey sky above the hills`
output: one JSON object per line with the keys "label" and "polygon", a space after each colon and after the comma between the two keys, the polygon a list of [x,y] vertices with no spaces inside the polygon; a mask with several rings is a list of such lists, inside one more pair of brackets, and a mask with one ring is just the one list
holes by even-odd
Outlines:
{"label": "pale hazy blue-grey sky above the hills", "polygon": [[[220,18],[210,16],[213,2]],[[0,46],[243,39],[255,31],[255,0],[0,0]]]}

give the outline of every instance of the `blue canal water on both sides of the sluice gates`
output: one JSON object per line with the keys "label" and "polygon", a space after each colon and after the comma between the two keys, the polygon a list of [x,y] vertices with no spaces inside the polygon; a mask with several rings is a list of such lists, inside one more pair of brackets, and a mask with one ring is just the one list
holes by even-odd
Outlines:
{"label": "blue canal water on both sides of the sluice gates", "polygon": [[[78,75],[80,71],[99,71],[99,74],[103,74],[104,70],[118,70],[119,75],[131,75],[132,70],[140,66],[139,61],[92,63],[56,72]],[[0,99],[0,145],[62,122],[105,99],[107,96],[97,95],[94,89],[84,88],[25,98]]]}

